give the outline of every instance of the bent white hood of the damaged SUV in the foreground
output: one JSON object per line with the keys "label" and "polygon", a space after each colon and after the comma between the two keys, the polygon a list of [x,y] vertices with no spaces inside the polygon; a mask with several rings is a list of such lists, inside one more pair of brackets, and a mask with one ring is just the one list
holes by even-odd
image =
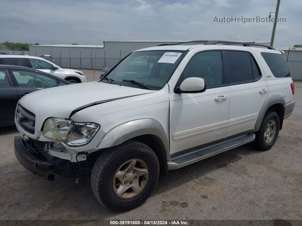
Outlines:
{"label": "bent white hood of the damaged SUV in the foreground", "polygon": [[152,92],[155,91],[95,81],[35,91],[22,97],[20,102],[39,112],[40,124],[48,117],[69,118],[72,113],[95,104]]}

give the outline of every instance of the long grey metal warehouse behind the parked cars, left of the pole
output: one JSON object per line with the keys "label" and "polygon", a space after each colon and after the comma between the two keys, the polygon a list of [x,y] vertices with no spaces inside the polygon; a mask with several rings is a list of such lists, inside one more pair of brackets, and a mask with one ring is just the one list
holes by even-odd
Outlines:
{"label": "long grey metal warehouse behind the parked cars, left of the pole", "polygon": [[[113,67],[134,50],[179,42],[184,41],[104,41],[104,45],[32,45],[29,46],[29,55],[51,55],[54,63],[64,68],[101,69]],[[267,41],[246,42],[269,45]]]}

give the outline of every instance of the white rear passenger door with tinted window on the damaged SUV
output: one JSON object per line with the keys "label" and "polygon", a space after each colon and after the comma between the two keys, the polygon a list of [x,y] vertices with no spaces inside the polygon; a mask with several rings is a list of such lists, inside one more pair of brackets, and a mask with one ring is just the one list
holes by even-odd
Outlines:
{"label": "white rear passenger door with tinted window on the damaged SUV", "polygon": [[[230,91],[229,127],[226,137],[254,129],[268,84],[258,59],[249,51],[222,51],[228,61]],[[263,75],[263,76],[262,76]]]}

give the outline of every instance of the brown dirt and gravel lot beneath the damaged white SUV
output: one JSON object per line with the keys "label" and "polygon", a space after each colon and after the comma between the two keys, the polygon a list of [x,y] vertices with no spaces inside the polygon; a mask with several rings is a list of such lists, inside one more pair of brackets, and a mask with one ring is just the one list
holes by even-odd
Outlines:
{"label": "brown dirt and gravel lot beneath the damaged white SUV", "polygon": [[29,173],[14,156],[14,136],[21,134],[14,126],[2,127],[0,219],[301,220],[302,83],[295,87],[294,113],[271,150],[259,152],[247,144],[186,167],[197,183],[183,168],[169,171],[147,202],[125,213],[100,205],[89,177],[76,184],[56,176],[49,183]]}

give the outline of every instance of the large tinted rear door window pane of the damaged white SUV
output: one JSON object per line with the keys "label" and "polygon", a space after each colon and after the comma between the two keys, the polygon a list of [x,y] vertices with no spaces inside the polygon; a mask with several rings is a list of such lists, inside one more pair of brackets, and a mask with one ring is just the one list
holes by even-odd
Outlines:
{"label": "large tinted rear door window pane of the damaged white SUV", "polygon": [[229,62],[230,83],[254,80],[249,52],[226,51]]}

